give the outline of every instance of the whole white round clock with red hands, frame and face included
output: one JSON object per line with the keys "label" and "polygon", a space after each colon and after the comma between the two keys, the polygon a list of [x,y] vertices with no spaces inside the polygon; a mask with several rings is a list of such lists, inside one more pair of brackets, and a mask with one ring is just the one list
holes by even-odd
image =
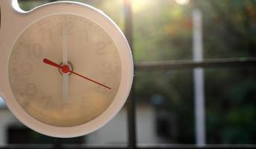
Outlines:
{"label": "whole white round clock with red hands, frame and face included", "polygon": [[23,124],[54,137],[91,133],[125,104],[134,66],[122,31],[72,1],[24,12],[0,1],[0,95]]}

